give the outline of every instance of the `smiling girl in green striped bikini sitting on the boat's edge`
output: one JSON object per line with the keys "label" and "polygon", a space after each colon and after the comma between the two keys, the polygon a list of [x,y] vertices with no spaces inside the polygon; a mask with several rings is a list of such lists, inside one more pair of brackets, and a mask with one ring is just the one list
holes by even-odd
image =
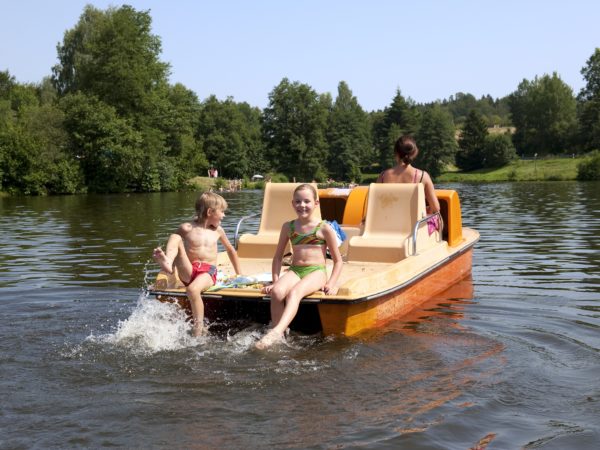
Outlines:
{"label": "smiling girl in green striped bikini sitting on the boat's edge", "polygon": [[[298,215],[296,220],[281,227],[277,250],[273,257],[273,284],[263,290],[271,294],[271,322],[273,328],[256,343],[264,349],[283,340],[296,313],[300,300],[318,290],[327,295],[338,291],[337,281],[342,271],[342,256],[338,249],[335,231],[329,224],[313,216],[319,204],[316,189],[310,184],[301,184],[294,190],[292,206]],[[281,277],[283,252],[288,240],[292,244],[293,259],[289,270]],[[333,259],[333,270],[329,280],[325,268],[325,253]]]}

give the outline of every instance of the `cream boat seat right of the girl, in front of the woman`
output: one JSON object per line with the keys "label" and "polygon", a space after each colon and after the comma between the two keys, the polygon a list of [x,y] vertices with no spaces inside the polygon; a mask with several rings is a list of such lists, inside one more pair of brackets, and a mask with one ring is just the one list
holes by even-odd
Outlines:
{"label": "cream boat seat right of the girl, in front of the woman", "polygon": [[[414,226],[425,215],[422,183],[372,183],[364,232],[349,240],[347,260],[394,263],[406,258],[412,249]],[[418,251],[435,242],[436,233],[429,236],[424,223],[417,233]]]}

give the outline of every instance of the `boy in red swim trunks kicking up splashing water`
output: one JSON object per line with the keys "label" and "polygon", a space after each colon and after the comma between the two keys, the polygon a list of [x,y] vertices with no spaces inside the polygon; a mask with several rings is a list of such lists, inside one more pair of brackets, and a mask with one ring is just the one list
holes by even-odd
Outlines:
{"label": "boy in red swim trunks kicking up splashing water", "polygon": [[217,280],[217,243],[221,241],[236,274],[241,274],[240,261],[233,245],[221,227],[227,202],[213,192],[205,192],[196,200],[194,220],[182,223],[176,233],[169,236],[166,250],[154,249],[153,258],[167,273],[177,268],[179,279],[186,285],[192,306],[192,334],[204,334],[204,303],[202,291]]}

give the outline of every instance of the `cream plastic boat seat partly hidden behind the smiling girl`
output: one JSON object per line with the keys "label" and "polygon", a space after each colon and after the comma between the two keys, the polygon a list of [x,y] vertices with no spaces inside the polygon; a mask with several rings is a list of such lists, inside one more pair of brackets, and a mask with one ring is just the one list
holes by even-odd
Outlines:
{"label": "cream plastic boat seat partly hidden behind the smiling girl", "polygon": [[[292,207],[294,189],[302,183],[266,183],[260,225],[256,234],[243,234],[238,242],[240,258],[273,258],[279,233],[284,222],[295,219]],[[315,189],[316,184],[311,183]],[[318,192],[318,191],[317,191]],[[321,209],[317,205],[315,214],[321,218]],[[284,253],[289,251],[289,243]]]}

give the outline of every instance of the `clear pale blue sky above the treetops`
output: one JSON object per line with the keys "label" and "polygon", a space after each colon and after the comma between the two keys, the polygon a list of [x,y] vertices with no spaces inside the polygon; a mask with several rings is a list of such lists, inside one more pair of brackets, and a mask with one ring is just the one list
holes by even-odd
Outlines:
{"label": "clear pale blue sky above the treetops", "polygon": [[[503,97],[557,72],[575,94],[600,47],[598,0],[131,0],[150,10],[171,83],[200,100],[228,96],[264,108],[282,78],[335,98],[346,81],[364,109],[400,89],[416,102],[457,92]],[[0,0],[0,70],[38,83],[86,4]]]}

